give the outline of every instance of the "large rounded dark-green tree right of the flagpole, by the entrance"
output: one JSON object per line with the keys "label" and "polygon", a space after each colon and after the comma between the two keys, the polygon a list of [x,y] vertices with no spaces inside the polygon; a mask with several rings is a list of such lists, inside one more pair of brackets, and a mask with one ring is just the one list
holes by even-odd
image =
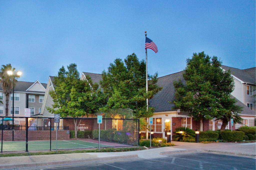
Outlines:
{"label": "large rounded dark-green tree right of the flagpole, by the entrance", "polygon": [[230,107],[230,93],[234,82],[230,71],[223,71],[221,61],[216,56],[212,58],[204,52],[194,53],[187,59],[187,66],[182,81],[174,82],[175,99],[173,109],[187,112],[195,120],[212,119],[224,113]]}

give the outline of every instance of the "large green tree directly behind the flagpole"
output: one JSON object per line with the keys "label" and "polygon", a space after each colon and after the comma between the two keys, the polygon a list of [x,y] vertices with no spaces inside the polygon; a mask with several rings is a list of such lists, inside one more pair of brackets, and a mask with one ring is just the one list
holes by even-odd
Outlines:
{"label": "large green tree directly behind the flagpole", "polygon": [[[107,105],[101,110],[127,108],[134,110],[139,117],[151,117],[154,109],[146,110],[146,98],[151,99],[161,87],[157,86],[157,73],[148,75],[148,93],[146,94],[146,64],[144,60],[139,61],[133,53],[128,55],[124,62],[115,59],[108,71],[102,72],[100,85],[104,94],[108,97]],[[137,110],[136,103],[137,101]],[[133,103],[132,103],[133,102]]]}

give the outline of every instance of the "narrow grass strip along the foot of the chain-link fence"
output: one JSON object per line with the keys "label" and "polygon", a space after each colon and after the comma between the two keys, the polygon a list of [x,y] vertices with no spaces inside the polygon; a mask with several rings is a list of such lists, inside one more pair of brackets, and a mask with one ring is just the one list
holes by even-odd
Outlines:
{"label": "narrow grass strip along the foot of the chain-link fence", "polygon": [[9,157],[9,156],[30,156],[30,155],[51,155],[51,154],[65,154],[65,153],[88,153],[88,152],[126,152],[126,151],[140,151],[144,150],[143,147],[131,147],[131,148],[104,148],[104,149],[90,149],[90,150],[60,150],[48,151],[48,152],[26,152],[26,153],[1,153],[0,157]]}

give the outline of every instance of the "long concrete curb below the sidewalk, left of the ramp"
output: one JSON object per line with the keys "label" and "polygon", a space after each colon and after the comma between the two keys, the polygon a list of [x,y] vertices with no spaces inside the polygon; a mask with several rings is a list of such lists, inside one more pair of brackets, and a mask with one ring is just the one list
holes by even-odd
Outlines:
{"label": "long concrete curb below the sidewalk, left of the ramp", "polygon": [[120,156],[110,156],[110,157],[100,157],[100,158],[88,158],[88,159],[77,159],[77,160],[65,160],[65,161],[52,161],[52,162],[33,162],[33,163],[22,163],[22,164],[2,164],[0,169],[15,169],[15,168],[38,168],[44,166],[57,166],[57,165],[72,165],[72,164],[82,164],[89,162],[99,162],[99,161],[111,161],[111,160],[123,160],[130,158],[138,158],[137,154],[133,155],[120,155]]}

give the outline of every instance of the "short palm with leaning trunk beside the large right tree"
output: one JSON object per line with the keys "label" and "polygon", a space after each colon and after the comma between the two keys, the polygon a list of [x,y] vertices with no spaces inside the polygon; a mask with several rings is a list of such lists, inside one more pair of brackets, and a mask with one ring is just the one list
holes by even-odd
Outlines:
{"label": "short palm with leaning trunk beside the large right tree", "polygon": [[240,112],[243,111],[243,107],[238,106],[236,104],[232,104],[229,109],[224,109],[222,111],[222,114],[217,117],[215,120],[220,120],[222,121],[220,131],[225,130],[228,122],[230,119],[233,119],[234,124],[239,123],[242,124],[242,118],[240,117]]}

